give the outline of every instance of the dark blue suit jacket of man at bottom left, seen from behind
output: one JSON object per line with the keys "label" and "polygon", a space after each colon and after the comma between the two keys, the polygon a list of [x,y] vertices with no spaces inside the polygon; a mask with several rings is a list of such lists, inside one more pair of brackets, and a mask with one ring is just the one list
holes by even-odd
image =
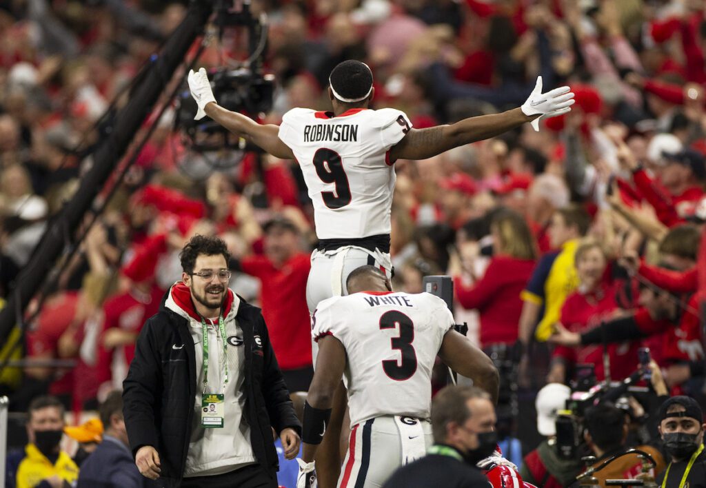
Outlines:
{"label": "dark blue suit jacket of man at bottom left, seen from behind", "polygon": [[104,436],[78,472],[78,488],[143,488],[148,479],[140,475],[130,449],[114,437]]}

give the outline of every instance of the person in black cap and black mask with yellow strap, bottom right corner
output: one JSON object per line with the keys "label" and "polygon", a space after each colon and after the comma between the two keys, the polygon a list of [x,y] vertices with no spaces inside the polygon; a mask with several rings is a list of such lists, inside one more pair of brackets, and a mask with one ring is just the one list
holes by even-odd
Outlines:
{"label": "person in black cap and black mask with yellow strap, bottom right corner", "polygon": [[659,434],[670,463],[657,478],[662,487],[706,487],[703,411],[688,396],[674,396],[662,403],[657,415]]}

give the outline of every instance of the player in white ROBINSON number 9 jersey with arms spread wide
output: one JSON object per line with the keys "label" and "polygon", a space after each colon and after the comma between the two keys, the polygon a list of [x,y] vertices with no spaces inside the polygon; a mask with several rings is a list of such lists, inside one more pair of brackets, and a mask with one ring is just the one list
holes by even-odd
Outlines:
{"label": "player in white ROBINSON number 9 jersey with arms spread wide", "polygon": [[395,160],[426,159],[529,121],[539,129],[539,117],[564,114],[574,102],[567,86],[542,93],[539,77],[522,107],[414,129],[398,110],[368,109],[375,90],[366,64],[343,61],[331,71],[329,82],[333,112],[292,109],[279,127],[219,107],[205,70],[189,73],[189,88],[198,105],[196,119],[208,115],[267,153],[299,162],[320,239],[307,283],[309,311],[325,298],[345,294],[347,274],[359,266],[371,264],[390,276]]}

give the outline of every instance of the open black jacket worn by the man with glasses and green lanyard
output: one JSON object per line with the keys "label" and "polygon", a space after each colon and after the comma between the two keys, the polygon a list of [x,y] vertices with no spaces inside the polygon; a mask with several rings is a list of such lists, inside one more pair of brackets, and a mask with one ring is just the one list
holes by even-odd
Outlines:
{"label": "open black jacket worn by the man with glasses and green lanyard", "polygon": [[[142,446],[155,446],[160,454],[160,482],[177,485],[191,438],[196,352],[186,319],[164,306],[168,294],[159,313],[140,331],[135,357],[123,382],[123,412],[133,456]],[[301,434],[301,424],[261,310],[241,299],[236,320],[243,331],[244,350],[251,352],[241,371],[246,395],[243,414],[251,428],[251,446],[258,463],[274,477],[279,466],[271,427],[277,434],[287,427]],[[174,349],[177,344],[184,347]]]}

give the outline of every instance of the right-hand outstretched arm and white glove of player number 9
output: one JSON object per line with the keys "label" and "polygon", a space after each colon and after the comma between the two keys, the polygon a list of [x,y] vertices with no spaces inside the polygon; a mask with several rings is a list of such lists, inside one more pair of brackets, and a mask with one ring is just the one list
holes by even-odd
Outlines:
{"label": "right-hand outstretched arm and white glove of player number 9", "polygon": [[539,130],[536,119],[566,114],[574,103],[573,96],[568,86],[542,93],[542,76],[539,76],[522,107],[501,114],[469,117],[450,125],[412,129],[390,150],[390,159],[426,159],[460,145],[498,136],[530,121],[534,130]]}

